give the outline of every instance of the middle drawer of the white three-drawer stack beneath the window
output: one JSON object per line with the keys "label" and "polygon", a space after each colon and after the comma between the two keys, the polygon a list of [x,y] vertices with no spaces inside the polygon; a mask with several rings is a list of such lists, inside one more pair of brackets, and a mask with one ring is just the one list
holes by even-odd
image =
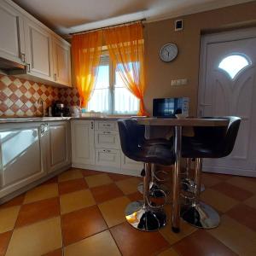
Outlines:
{"label": "middle drawer of the white three-drawer stack beneath the window", "polygon": [[118,131],[95,131],[96,148],[119,149]]}

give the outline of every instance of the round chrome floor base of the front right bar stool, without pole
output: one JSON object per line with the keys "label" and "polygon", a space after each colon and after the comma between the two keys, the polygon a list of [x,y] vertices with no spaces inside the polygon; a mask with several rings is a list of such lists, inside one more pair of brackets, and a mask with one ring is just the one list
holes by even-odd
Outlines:
{"label": "round chrome floor base of the front right bar stool, without pole", "polygon": [[202,201],[189,207],[183,207],[181,218],[189,224],[203,229],[213,229],[219,224],[218,212]]}

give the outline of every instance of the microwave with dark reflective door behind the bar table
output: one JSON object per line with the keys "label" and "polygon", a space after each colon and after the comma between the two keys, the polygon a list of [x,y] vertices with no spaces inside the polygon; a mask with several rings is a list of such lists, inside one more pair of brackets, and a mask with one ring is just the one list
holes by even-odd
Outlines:
{"label": "microwave with dark reflective door behind the bar table", "polygon": [[189,98],[161,98],[153,100],[153,116],[157,118],[175,118],[181,113],[189,116]]}

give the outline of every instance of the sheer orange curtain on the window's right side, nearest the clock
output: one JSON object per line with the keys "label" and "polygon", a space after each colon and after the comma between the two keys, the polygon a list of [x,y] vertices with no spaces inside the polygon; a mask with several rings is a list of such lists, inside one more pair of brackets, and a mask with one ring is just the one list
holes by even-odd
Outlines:
{"label": "sheer orange curtain on the window's right side, nearest the clock", "polygon": [[104,38],[114,67],[126,88],[140,100],[138,115],[148,115],[144,107],[143,25],[135,23],[104,30]]}

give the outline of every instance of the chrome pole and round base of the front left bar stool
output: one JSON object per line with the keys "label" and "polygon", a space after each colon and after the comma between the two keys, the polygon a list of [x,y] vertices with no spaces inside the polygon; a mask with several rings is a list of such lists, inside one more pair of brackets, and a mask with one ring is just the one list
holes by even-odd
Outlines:
{"label": "chrome pole and round base of the front left bar stool", "polygon": [[145,164],[143,201],[133,201],[125,209],[125,218],[137,230],[155,231],[166,225],[166,213],[160,208],[152,208],[148,201],[150,164]]}

